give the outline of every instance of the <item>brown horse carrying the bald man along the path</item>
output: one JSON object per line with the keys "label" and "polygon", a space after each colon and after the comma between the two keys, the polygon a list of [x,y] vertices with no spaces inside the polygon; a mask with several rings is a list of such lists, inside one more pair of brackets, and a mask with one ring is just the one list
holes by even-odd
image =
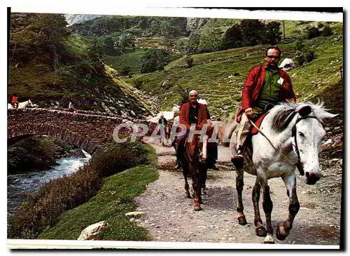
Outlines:
{"label": "brown horse carrying the bald man along the path", "polygon": [[182,154],[179,155],[179,161],[183,169],[183,177],[185,178],[186,196],[192,198],[189,191],[187,177],[192,177],[193,198],[195,200],[195,210],[202,210],[202,189],[205,189],[207,180],[207,144],[208,138],[211,136],[213,129],[208,128],[207,135],[201,140],[201,135],[195,134],[193,140],[188,142],[186,139],[185,147]]}

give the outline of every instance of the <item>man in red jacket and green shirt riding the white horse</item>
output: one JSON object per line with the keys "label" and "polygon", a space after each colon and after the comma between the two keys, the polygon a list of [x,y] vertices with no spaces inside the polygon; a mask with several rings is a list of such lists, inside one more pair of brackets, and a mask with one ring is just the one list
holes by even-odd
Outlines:
{"label": "man in red jacket and green shirt riding the white horse", "polygon": [[268,104],[296,102],[290,76],[278,67],[280,59],[281,50],[277,46],[267,48],[265,64],[253,67],[246,78],[242,91],[241,110],[237,115],[237,122],[239,122],[237,144],[232,148],[237,152],[231,159],[235,166],[243,165],[242,154],[246,137],[251,130],[249,119],[260,116],[265,112]]}

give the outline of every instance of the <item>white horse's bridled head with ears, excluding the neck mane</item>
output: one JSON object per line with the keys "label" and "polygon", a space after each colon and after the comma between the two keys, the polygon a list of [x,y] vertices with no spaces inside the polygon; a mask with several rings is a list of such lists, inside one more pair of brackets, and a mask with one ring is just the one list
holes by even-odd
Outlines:
{"label": "white horse's bridled head with ears, excluding the neck mane", "polygon": [[[325,135],[323,121],[337,116],[323,109],[323,105],[297,105],[297,119],[292,129],[293,150],[298,156],[297,168],[304,171],[307,184],[315,184],[321,177],[318,154]],[[302,169],[300,169],[302,168]]]}

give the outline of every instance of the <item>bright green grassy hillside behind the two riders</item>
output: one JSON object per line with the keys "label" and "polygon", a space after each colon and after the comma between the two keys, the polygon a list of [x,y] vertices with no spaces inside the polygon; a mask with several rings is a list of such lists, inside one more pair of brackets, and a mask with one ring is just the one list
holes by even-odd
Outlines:
{"label": "bright green grassy hillside behind the two riders", "polygon": [[[298,100],[311,100],[340,79],[343,63],[343,37],[334,35],[304,41],[305,50],[314,50],[316,59],[288,73]],[[214,116],[226,116],[241,104],[241,89],[249,70],[263,61],[263,48],[254,46],[193,55],[194,66],[186,67],[184,58],[171,62],[164,72],[125,79],[147,94],[158,95],[160,106],[169,110],[179,104],[176,84],[198,90],[209,101]],[[283,58],[293,58],[294,43],[281,45]],[[324,99],[327,100],[327,99]]]}

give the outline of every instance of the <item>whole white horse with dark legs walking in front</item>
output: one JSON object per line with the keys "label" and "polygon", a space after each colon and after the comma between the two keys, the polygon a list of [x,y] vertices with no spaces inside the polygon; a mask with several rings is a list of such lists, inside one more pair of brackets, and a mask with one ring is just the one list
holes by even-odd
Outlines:
{"label": "whole white horse with dark legs walking in front", "polygon": [[[255,234],[266,236],[264,243],[274,243],[271,224],[272,201],[269,196],[267,181],[270,178],[281,177],[289,197],[289,214],[285,222],[278,224],[276,238],[284,240],[292,229],[295,215],[300,203],[297,200],[295,167],[301,175],[306,175],[307,184],[315,184],[321,177],[318,154],[321,151],[321,141],[325,135],[323,122],[337,116],[330,114],[323,104],[314,105],[311,102],[301,102],[296,105],[281,104],[273,107],[260,130],[251,137],[252,154],[246,153],[246,161],[251,160],[251,169],[236,166],[237,212],[239,224],[246,224],[243,213],[241,192],[243,190],[244,171],[256,176],[253,187],[253,206]],[[235,151],[235,133],[232,134],[230,148]],[[248,151],[248,150],[246,150]],[[260,189],[262,190],[262,206],[266,217],[266,226],[262,225],[259,212]]]}

